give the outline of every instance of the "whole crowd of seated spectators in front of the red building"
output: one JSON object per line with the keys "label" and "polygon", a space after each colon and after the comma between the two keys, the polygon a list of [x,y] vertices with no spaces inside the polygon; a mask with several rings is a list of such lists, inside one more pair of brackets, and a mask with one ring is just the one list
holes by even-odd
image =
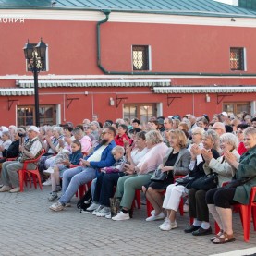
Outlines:
{"label": "whole crowd of seated spectators in front of the red building", "polygon": [[[152,116],[146,124],[138,118],[118,118],[102,125],[94,115],[92,121],[83,119],[76,127],[70,122],[41,128],[0,127],[0,192],[18,192],[18,169],[43,154],[38,167],[43,185],[52,185],[48,200],[55,201],[49,207],[54,212],[70,206],[79,186],[92,181],[92,202],[85,213],[128,220],[136,190],[141,189],[153,207],[146,221],[163,219],[161,230],[177,228],[179,202],[184,198],[184,208],[189,206],[193,219],[185,233],[211,234],[211,213],[221,229],[211,241],[234,241],[231,205],[248,203],[256,177],[237,188],[222,186],[256,175],[256,117],[245,113],[231,117],[226,112],[213,115],[212,120],[207,115]],[[35,167],[36,163],[27,166]],[[195,181],[212,172],[218,175],[215,189],[197,189],[193,182],[185,185],[175,180],[183,176]],[[114,216],[109,201],[113,197],[120,201]]]}

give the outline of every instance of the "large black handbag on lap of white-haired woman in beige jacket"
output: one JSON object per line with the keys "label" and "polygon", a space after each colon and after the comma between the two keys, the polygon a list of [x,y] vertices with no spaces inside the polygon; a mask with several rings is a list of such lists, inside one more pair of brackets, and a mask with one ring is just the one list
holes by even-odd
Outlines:
{"label": "large black handbag on lap of white-haired woman in beige jacket", "polygon": [[208,191],[210,189],[216,188],[217,185],[218,185],[218,174],[213,172],[206,176],[195,179],[191,184],[191,188]]}

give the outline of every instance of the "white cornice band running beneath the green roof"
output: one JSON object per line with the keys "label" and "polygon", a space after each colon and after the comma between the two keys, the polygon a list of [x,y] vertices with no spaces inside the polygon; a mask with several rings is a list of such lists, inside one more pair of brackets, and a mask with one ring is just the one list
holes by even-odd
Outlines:
{"label": "white cornice band running beneath the green roof", "polygon": [[[0,9],[0,21],[2,25],[19,20],[69,20],[69,21],[99,21],[104,18],[100,11],[80,10],[11,10]],[[154,14],[154,13],[132,13],[112,12],[109,22],[130,23],[153,23],[153,24],[176,24],[176,25],[200,25],[200,26],[228,26],[228,27],[256,27],[255,18],[233,18],[233,17],[203,17],[177,14]]]}

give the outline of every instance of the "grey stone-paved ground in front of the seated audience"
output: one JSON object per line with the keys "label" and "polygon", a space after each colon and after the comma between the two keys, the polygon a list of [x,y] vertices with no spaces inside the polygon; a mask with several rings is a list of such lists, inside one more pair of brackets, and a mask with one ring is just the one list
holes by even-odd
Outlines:
{"label": "grey stone-paved ground in front of the seated audience", "polygon": [[[213,255],[234,250],[250,249],[256,252],[256,232],[250,233],[250,242],[243,241],[238,213],[234,213],[237,241],[213,245],[209,238],[185,234],[189,225],[188,213],[178,216],[178,228],[161,231],[162,221],[145,222],[145,206],[136,209],[128,221],[115,222],[79,213],[77,198],[72,207],[55,213],[49,210],[47,200],[50,187],[25,188],[18,194],[0,193],[0,255]],[[252,226],[252,225],[251,225]],[[252,253],[250,253],[252,254]],[[225,255],[222,254],[222,255]],[[231,254],[228,254],[231,255]],[[248,255],[243,252],[232,255]]]}

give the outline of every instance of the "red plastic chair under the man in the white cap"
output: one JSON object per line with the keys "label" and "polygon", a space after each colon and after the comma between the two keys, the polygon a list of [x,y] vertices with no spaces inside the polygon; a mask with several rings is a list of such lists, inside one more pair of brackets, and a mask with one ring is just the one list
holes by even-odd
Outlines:
{"label": "red plastic chair under the man in the white cap", "polygon": [[[43,153],[44,153],[44,150],[43,150],[43,152],[41,152],[41,154],[36,159],[25,160],[24,163],[23,163],[22,169],[18,170],[18,179],[19,179],[20,192],[24,191],[24,187],[23,187],[24,182],[27,185],[27,183],[26,183],[27,180],[25,180],[25,175],[26,174],[28,174],[29,179],[30,179],[30,174],[33,176],[33,183],[34,183],[35,189],[37,189],[36,178],[38,180],[38,184],[39,184],[40,189],[41,190],[43,189],[42,182],[41,182],[41,176],[40,176],[40,173],[39,173],[39,170],[38,170],[38,166],[37,166],[37,163],[40,160],[40,158],[43,155]],[[36,169],[35,170],[27,170],[27,166],[30,163],[36,164]],[[30,180],[30,187],[31,187],[31,180]]]}

